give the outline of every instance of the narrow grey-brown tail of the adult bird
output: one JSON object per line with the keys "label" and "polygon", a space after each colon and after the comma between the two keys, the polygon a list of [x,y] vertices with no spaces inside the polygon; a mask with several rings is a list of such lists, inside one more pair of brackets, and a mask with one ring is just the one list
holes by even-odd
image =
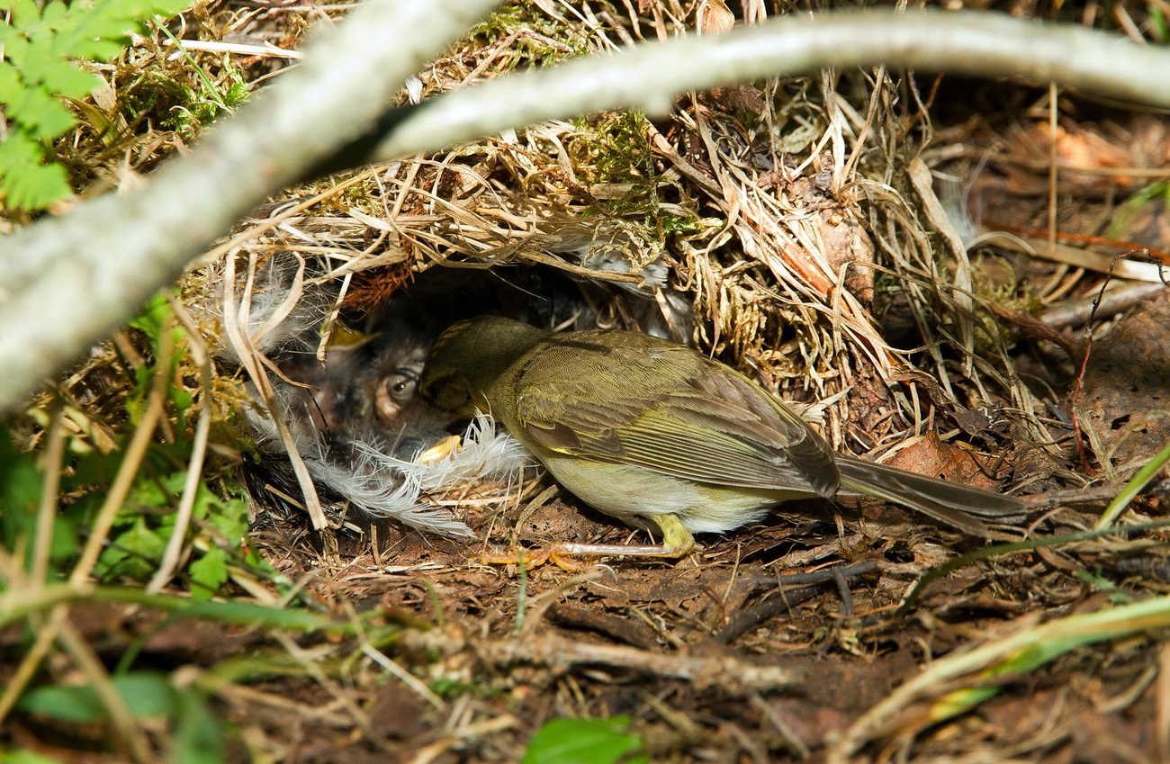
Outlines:
{"label": "narrow grey-brown tail of the adult bird", "polygon": [[973,515],[1005,517],[1023,515],[1027,508],[1014,496],[950,483],[853,456],[838,456],[837,466],[844,490],[908,507],[973,536],[990,535],[987,526]]}

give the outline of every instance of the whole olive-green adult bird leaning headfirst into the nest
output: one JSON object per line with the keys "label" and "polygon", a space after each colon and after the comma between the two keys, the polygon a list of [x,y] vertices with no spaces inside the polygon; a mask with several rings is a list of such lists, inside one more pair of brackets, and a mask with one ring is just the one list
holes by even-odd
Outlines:
{"label": "whole olive-green adult bird leaning headfirst into the nest", "polygon": [[639,553],[681,556],[693,532],[739,528],[789,498],[842,488],[973,535],[987,529],[971,515],[1024,511],[1010,496],[837,455],[739,372],[638,332],[461,322],[435,343],[420,390],[442,408],[490,412],[583,501],[661,530],[663,545]]}

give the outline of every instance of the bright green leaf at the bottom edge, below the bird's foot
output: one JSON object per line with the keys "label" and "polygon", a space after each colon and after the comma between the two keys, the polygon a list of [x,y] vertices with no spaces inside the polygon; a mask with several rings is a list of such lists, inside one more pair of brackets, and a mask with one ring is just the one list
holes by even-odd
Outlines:
{"label": "bright green leaf at the bottom edge, below the bird's foot", "polygon": [[642,739],[628,728],[628,716],[555,718],[532,736],[523,764],[645,764],[649,759],[633,755]]}

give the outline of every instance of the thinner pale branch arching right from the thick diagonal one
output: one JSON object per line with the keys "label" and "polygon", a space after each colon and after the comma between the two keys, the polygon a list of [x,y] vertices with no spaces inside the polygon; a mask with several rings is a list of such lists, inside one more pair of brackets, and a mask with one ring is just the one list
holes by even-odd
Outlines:
{"label": "thinner pale branch arching right from the thick diagonal one", "polygon": [[610,109],[670,111],[674,94],[825,68],[949,71],[1054,82],[1170,108],[1170,49],[1000,13],[866,11],[775,19],[725,35],[676,37],[620,54],[498,77],[435,98],[378,145],[377,161]]}

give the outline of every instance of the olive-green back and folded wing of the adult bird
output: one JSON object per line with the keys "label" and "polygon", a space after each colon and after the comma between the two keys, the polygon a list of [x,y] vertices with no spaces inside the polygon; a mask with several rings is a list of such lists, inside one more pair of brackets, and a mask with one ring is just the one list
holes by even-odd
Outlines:
{"label": "olive-green back and folded wing of the adult bird", "polygon": [[[746,377],[654,338],[618,346],[565,338],[521,371],[516,418],[535,443],[704,483],[835,493],[825,440]],[[571,379],[562,353],[579,370]]]}

